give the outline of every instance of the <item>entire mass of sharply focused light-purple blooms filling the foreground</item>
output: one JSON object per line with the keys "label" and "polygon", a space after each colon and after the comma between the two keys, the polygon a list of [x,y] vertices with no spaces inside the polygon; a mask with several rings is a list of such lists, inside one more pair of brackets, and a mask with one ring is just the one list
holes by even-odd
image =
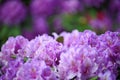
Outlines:
{"label": "entire mass of sharply focused light-purple blooms filling the foreground", "polygon": [[85,30],[10,37],[0,52],[0,80],[116,80],[120,33]]}

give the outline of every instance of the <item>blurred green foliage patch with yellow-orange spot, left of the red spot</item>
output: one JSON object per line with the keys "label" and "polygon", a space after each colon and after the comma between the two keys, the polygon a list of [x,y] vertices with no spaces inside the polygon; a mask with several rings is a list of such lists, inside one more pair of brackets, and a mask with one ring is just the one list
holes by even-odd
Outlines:
{"label": "blurred green foliage patch with yellow-orange spot, left of the red spot", "polygon": [[73,29],[79,31],[91,29],[86,18],[80,15],[63,15],[62,20],[63,27],[67,31],[72,31]]}

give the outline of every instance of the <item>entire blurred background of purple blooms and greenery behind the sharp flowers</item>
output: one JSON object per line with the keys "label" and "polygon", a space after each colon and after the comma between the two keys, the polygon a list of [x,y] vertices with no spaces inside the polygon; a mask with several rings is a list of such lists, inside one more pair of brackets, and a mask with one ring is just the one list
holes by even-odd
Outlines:
{"label": "entire blurred background of purple blooms and greenery behind the sharp flowers", "polygon": [[0,0],[0,47],[9,36],[120,31],[120,0]]}

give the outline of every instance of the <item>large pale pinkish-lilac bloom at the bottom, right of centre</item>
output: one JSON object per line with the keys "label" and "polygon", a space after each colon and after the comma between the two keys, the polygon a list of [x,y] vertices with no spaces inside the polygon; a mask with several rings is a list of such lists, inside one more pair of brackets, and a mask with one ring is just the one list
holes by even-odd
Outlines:
{"label": "large pale pinkish-lilac bloom at the bottom, right of centre", "polygon": [[[97,71],[97,64],[94,62],[96,51],[88,46],[70,47],[61,54],[58,73],[60,79],[88,79]],[[91,51],[89,51],[91,50]],[[68,59],[69,58],[69,59]]]}

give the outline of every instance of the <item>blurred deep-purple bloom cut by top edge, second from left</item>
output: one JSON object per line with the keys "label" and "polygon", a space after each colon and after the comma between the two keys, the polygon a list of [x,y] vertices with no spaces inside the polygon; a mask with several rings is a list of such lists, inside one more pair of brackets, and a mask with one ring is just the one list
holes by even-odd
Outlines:
{"label": "blurred deep-purple bloom cut by top edge, second from left", "polygon": [[55,0],[31,0],[30,9],[33,17],[48,16],[53,13]]}

